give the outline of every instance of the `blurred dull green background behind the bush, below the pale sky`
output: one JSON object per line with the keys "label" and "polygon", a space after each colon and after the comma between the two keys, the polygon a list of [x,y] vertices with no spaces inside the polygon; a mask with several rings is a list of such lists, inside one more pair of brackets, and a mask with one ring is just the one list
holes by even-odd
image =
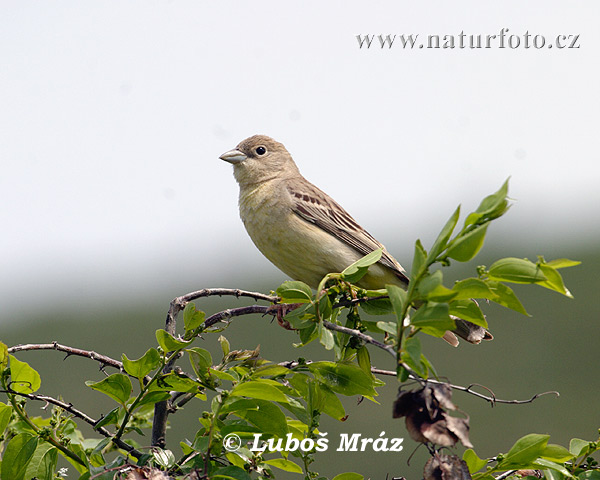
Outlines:
{"label": "blurred dull green background behind the bush, below the pale sky", "polygon": [[[544,254],[547,259],[569,257],[581,260],[581,266],[562,270],[565,282],[574,299],[546,291],[540,287],[515,286],[515,291],[532,318],[511,311],[484,305],[490,329],[495,335],[493,342],[472,346],[462,342],[454,349],[443,341],[425,338],[424,353],[437,368],[438,374],[455,384],[478,383],[490,388],[498,398],[527,399],[534,394],[557,390],[560,397],[544,396],[526,405],[497,404],[494,408],[471,395],[455,392],[454,402],[471,418],[471,441],[481,457],[506,452],[512,443],[527,433],[547,433],[552,443],[567,445],[572,437],[592,440],[597,438],[600,427],[598,394],[600,379],[597,374],[600,351],[600,325],[596,295],[600,280],[596,265],[600,253],[595,245],[568,244],[515,245],[494,240],[491,230],[487,245],[475,261],[453,264],[446,269],[446,284],[472,275],[476,265],[490,265],[503,256],[535,258]],[[265,261],[266,262],[266,261]],[[266,263],[265,263],[266,265]],[[241,279],[244,287],[268,292],[276,288],[280,277],[265,278],[260,269],[253,278]],[[223,286],[225,280],[219,275],[211,284],[194,285],[194,288]],[[229,287],[236,287],[228,280]],[[193,290],[190,289],[190,290]],[[126,353],[136,358],[155,345],[154,331],[163,326],[170,299],[180,292],[153,292],[141,302],[127,303],[127,287],[123,286],[121,298],[104,298],[93,305],[79,303],[77,299],[66,305],[49,304],[44,312],[27,312],[24,300],[21,312],[13,315],[12,321],[2,329],[2,341],[9,345],[18,343],[58,341],[70,346],[94,350],[98,353],[120,358]],[[100,299],[98,299],[100,300]],[[101,303],[101,305],[99,305]],[[197,307],[208,314],[252,303],[248,299],[211,298],[198,301]],[[261,347],[261,354],[273,362],[293,360],[300,356],[307,359],[332,359],[318,344],[302,349],[292,346],[297,341],[294,332],[280,328],[270,318],[258,315],[235,318],[223,333],[234,349]],[[220,348],[218,335],[207,336],[198,341],[215,356]],[[390,369],[391,360],[376,349],[371,349],[373,365]],[[29,362],[42,375],[42,392],[62,396],[66,401],[98,417],[106,413],[112,404],[84,386],[88,379],[98,380],[102,373],[98,364],[82,358],[69,357],[58,352],[23,352],[18,358]],[[181,363],[186,368],[186,362]],[[110,369],[109,369],[110,370]],[[419,478],[428,458],[425,448],[417,448],[407,435],[403,420],[391,418],[391,405],[397,385],[391,377],[383,378],[386,386],[381,388],[379,405],[367,400],[358,404],[357,398],[345,398],[344,406],[349,414],[345,422],[324,417],[321,430],[328,432],[329,450],[317,455],[314,469],[322,474],[334,476],[343,471],[356,471],[365,478],[406,476]],[[482,391],[482,390],[480,390]],[[485,393],[485,392],[484,392]],[[31,403],[35,413],[42,405]],[[183,411],[171,417],[168,446],[176,453],[180,438],[193,438],[198,428],[197,418],[206,406],[201,402],[188,404]],[[43,412],[40,411],[40,414]],[[89,434],[89,429],[84,428]],[[361,433],[377,437],[382,431],[388,437],[404,437],[401,453],[336,452],[339,434]],[[148,445],[150,440],[138,439]],[[411,454],[414,455],[410,459]],[[462,447],[451,452],[462,453]],[[294,478],[281,473],[280,478]]]}

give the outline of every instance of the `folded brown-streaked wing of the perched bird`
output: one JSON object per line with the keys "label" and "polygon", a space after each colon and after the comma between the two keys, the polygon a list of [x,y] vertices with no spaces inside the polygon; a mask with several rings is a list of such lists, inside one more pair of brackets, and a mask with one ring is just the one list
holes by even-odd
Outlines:
{"label": "folded brown-streaked wing of the perched bird", "polygon": [[288,184],[287,189],[292,198],[294,213],[340,239],[362,255],[378,248],[383,249],[379,263],[391,268],[402,282],[408,284],[408,277],[402,265],[329,195],[306,180],[300,182],[299,186]]}

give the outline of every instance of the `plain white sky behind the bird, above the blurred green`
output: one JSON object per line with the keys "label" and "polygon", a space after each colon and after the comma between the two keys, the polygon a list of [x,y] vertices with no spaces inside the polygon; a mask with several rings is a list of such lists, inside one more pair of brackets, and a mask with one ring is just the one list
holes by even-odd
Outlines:
{"label": "plain white sky behind the bird, above the blurred green", "polygon": [[[255,133],[392,251],[508,176],[512,240],[597,234],[599,19],[596,0],[2,1],[0,322],[24,299],[275,272],[218,160]],[[580,48],[355,38],[502,28]]]}

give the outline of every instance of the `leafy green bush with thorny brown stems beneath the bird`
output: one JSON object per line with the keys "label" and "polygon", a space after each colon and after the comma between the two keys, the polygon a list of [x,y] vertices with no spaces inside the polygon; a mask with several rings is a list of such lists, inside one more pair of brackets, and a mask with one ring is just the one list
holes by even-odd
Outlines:
{"label": "leafy green bush with thorny brown stems beneath the bird", "polygon": [[[208,289],[179,297],[171,305],[166,328],[156,332],[157,344],[134,360],[123,354],[117,361],[57,343],[11,348],[0,344],[1,391],[6,397],[6,403],[0,403],[0,477],[64,478],[67,469],[59,468],[63,457],[83,480],[248,480],[290,474],[307,480],[325,478],[311,468],[315,456],[323,454],[331,441],[319,431],[321,417],[344,420],[343,397],[374,400],[387,375],[401,387],[394,416],[404,417],[411,438],[425,443],[431,452],[424,468],[426,479],[528,475],[600,479],[592,457],[600,449],[598,440],[575,438],[562,447],[548,443],[547,435],[530,434],[507,453],[479,458],[469,442],[468,418],[451,401],[454,386],[439,380],[421,346],[421,335],[443,337],[456,326],[457,317],[487,328],[477,300],[527,315],[510,284],[538,285],[571,296],[559,270],[579,262],[546,261],[542,256],[535,261],[502,258],[489,267],[477,267],[473,277],[444,285],[444,269],[452,261],[473,259],[490,222],[506,213],[507,193],[508,181],[468,214],[458,231],[457,208],[429,251],[417,240],[406,290],[394,285],[377,291],[355,286],[381,257],[381,251],[374,251],[343,272],[327,275],[316,293],[301,282],[289,281],[271,295]],[[193,300],[213,294],[244,295],[266,300],[268,305],[207,317]],[[183,329],[177,334],[175,319],[181,311]],[[299,342],[296,346],[320,342],[329,359],[273,363],[262,358],[258,348],[232,349],[222,332],[231,318],[250,313],[275,316],[290,330],[290,339]],[[220,343],[219,358],[198,346],[200,337]],[[119,370],[86,382],[103,395],[101,418],[93,419],[82,406],[39,392],[39,374],[14,354],[41,348],[81,355]],[[372,348],[390,354],[389,371],[372,368]],[[49,416],[29,413],[36,402],[52,405]],[[167,445],[168,415],[189,402],[194,402],[187,410],[193,412],[190,421],[200,417],[195,437]],[[380,418],[387,422],[385,416]],[[97,435],[85,438],[78,427],[81,422],[92,425]],[[142,443],[144,431],[152,432],[151,446]],[[402,448],[398,439],[369,440],[358,445],[358,437],[348,437],[345,446],[373,451]],[[462,458],[441,450],[459,442],[468,447]],[[69,478],[74,477],[71,469]],[[361,478],[340,473],[334,480]]]}

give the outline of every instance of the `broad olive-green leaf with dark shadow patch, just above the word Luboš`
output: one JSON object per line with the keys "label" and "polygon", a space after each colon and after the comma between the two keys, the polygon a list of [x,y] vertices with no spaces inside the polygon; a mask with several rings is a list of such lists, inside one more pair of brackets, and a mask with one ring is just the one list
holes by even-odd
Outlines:
{"label": "broad olive-green leaf with dark shadow patch, just above the word Lubo\u0161", "polygon": [[333,362],[313,362],[308,369],[319,381],[336,393],[343,395],[376,396],[373,379],[353,364]]}

